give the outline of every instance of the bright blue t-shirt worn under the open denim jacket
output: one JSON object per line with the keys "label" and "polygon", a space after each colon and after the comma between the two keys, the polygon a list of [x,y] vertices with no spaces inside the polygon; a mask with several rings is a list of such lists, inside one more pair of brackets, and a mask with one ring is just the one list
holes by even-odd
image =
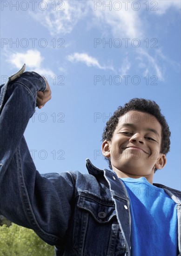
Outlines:
{"label": "bright blue t-shirt worn under the open denim jacket", "polygon": [[130,198],[131,255],[176,256],[176,203],[145,177],[121,178]]}

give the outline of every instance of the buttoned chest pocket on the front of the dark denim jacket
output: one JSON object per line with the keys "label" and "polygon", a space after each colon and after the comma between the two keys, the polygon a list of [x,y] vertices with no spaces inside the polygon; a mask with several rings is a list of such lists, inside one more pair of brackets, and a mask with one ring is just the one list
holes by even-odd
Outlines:
{"label": "buttoned chest pocket on the front of the dark denim jacket", "polygon": [[79,256],[124,255],[113,201],[81,192],[74,215],[73,247]]}

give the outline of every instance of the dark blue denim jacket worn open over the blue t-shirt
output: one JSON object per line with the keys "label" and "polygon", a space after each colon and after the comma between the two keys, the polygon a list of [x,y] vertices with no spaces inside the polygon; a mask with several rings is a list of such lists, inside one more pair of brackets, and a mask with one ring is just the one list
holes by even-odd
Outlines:
{"label": "dark blue denim jacket worn open over the blue t-shirt", "polygon": [[[11,79],[0,87],[0,214],[34,229],[55,245],[56,256],[130,256],[130,202],[124,183],[89,159],[88,174],[40,175],[23,133],[34,113],[36,91],[45,90],[45,81],[35,72]],[[181,255],[181,192],[153,185],[177,203]]]}

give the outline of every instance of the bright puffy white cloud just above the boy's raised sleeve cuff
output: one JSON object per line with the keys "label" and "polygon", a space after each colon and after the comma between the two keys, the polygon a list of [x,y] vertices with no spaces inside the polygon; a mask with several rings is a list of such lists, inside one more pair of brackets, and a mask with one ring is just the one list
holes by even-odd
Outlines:
{"label": "bright puffy white cloud just above the boy's raised sleeve cuff", "polygon": [[21,68],[26,63],[27,68],[40,75],[45,75],[46,77],[54,75],[52,70],[42,67],[41,62],[44,58],[38,50],[27,50],[26,53],[6,53],[6,55],[8,62],[16,68]]}

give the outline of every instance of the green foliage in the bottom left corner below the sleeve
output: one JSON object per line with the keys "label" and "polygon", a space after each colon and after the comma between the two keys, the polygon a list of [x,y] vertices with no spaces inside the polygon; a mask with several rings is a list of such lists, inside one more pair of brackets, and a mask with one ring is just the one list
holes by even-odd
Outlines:
{"label": "green foliage in the bottom left corner below the sleeve", "polygon": [[54,256],[54,246],[43,242],[32,229],[0,227],[0,256]]}

